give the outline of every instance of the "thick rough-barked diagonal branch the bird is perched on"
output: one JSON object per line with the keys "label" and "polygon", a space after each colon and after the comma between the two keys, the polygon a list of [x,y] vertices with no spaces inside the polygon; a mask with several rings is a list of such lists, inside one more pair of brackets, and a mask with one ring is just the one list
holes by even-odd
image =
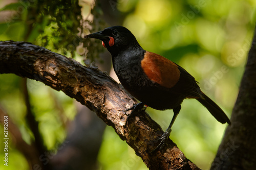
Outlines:
{"label": "thick rough-barked diagonal branch the bird is perched on", "polygon": [[112,126],[150,169],[199,169],[170,139],[163,151],[152,153],[163,134],[144,111],[129,118],[124,110],[136,102],[120,84],[95,67],[26,42],[0,42],[0,74],[12,73],[65,92]]}

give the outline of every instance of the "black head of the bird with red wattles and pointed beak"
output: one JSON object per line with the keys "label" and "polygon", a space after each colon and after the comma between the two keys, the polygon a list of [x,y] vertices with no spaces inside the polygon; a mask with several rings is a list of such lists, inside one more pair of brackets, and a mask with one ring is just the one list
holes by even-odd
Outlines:
{"label": "black head of the bird with red wattles and pointed beak", "polygon": [[84,38],[96,38],[101,40],[102,45],[106,47],[112,55],[117,55],[118,52],[139,45],[131,31],[122,26],[105,28],[103,31],[86,35]]}

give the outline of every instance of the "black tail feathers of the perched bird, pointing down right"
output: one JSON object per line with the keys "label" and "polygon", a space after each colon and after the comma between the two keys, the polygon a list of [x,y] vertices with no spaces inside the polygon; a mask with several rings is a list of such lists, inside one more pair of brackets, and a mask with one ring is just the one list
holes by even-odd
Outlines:
{"label": "black tail feathers of the perched bird, pointing down right", "polygon": [[202,105],[206,107],[206,109],[210,112],[212,116],[214,116],[220,123],[225,124],[228,123],[230,125],[230,120],[224,111],[207,95],[202,92],[202,98],[197,99]]}

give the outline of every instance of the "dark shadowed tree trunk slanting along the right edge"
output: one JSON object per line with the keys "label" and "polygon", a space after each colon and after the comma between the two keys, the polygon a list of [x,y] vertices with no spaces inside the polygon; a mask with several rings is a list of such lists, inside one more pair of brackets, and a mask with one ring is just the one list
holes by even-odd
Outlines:
{"label": "dark shadowed tree trunk slanting along the right edge", "polygon": [[[255,30],[256,31],[256,30]],[[256,32],[237,102],[211,169],[256,169]]]}

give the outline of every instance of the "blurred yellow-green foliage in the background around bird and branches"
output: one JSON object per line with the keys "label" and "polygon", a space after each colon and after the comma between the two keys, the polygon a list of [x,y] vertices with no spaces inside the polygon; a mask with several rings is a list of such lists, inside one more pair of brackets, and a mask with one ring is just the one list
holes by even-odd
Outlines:
{"label": "blurred yellow-green foliage in the background around bird and branches", "polygon": [[[90,1],[38,0],[34,4],[14,1],[11,5],[6,2],[0,2],[1,11],[10,12],[6,14],[8,17],[0,19],[2,41],[29,41],[80,61],[78,54],[87,54],[93,60],[103,49],[99,41],[81,43],[80,36],[105,26],[99,7],[92,11],[97,24],[91,23]],[[253,35],[255,1],[120,0],[112,7],[126,14],[123,26],[133,32],[145,50],[185,68],[200,83],[202,91],[230,117]],[[87,16],[86,22],[82,20],[84,16]],[[33,135],[25,121],[20,79],[15,75],[0,75],[0,105],[29,143]],[[42,83],[28,80],[28,88],[40,132],[51,149],[65,139],[63,123],[75,116],[75,106],[65,94]],[[57,105],[62,107],[63,117]],[[164,130],[173,116],[170,110],[148,108],[147,111]],[[202,169],[209,169],[225,127],[196,100],[185,100],[170,138],[191,161]],[[3,127],[0,127],[0,134],[2,136]],[[9,159],[15,163],[12,161],[8,169],[28,169],[24,156],[14,148],[15,141],[9,141]],[[1,142],[1,157],[3,146]],[[111,127],[105,130],[98,160],[100,169],[147,169]],[[0,169],[6,169],[3,163]]]}

